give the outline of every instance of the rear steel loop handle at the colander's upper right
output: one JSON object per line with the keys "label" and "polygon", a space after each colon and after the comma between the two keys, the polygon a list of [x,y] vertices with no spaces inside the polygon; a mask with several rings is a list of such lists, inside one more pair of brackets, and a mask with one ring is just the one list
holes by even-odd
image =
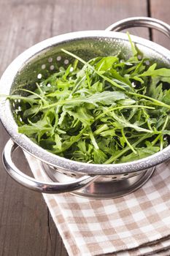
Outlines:
{"label": "rear steel loop handle at the colander's upper right", "polygon": [[123,29],[132,28],[134,26],[143,26],[150,29],[157,29],[158,31],[163,32],[163,34],[166,34],[167,37],[170,37],[169,24],[164,23],[161,20],[148,17],[125,18],[109,26],[106,31],[121,31]]}

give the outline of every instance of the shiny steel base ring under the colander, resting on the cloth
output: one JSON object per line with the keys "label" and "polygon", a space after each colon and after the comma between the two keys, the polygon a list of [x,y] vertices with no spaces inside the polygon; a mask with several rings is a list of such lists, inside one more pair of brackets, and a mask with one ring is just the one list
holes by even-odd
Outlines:
{"label": "shiny steel base ring under the colander, resting on the cloth", "polygon": [[[66,174],[60,173],[57,170],[54,171],[53,168],[45,163],[42,163],[42,169],[54,182],[66,182],[68,180],[72,181],[75,179],[66,176]],[[119,181],[102,181],[100,178],[100,181],[96,180],[87,187],[72,192],[71,194],[80,197],[88,197],[90,199],[111,199],[122,197],[142,187],[152,176],[154,170],[155,167],[151,167],[140,172],[136,176],[125,178]]]}

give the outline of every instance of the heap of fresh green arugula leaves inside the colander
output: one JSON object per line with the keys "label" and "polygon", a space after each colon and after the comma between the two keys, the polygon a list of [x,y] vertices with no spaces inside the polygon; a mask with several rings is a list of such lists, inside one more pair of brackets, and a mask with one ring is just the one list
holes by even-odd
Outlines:
{"label": "heap of fresh green arugula leaves inside the colander", "polygon": [[[18,131],[48,151],[80,162],[130,162],[168,146],[170,69],[132,56],[98,56],[61,67],[34,90],[18,88]],[[138,55],[142,59],[138,59]],[[82,68],[79,68],[81,63]]]}

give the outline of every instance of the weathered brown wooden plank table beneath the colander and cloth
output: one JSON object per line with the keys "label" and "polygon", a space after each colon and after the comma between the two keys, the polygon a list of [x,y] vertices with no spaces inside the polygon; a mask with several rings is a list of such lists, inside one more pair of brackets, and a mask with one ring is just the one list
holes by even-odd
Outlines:
{"label": "weathered brown wooden plank table beneath the colander and cloth", "polygon": [[[122,18],[150,16],[170,23],[170,0],[0,0],[0,75],[36,42],[70,31],[105,29]],[[132,29],[170,48],[156,31]],[[0,155],[9,135],[0,124]],[[23,155],[15,155],[29,173]],[[4,171],[0,159],[0,256],[66,256],[58,230],[37,192],[21,187]]]}

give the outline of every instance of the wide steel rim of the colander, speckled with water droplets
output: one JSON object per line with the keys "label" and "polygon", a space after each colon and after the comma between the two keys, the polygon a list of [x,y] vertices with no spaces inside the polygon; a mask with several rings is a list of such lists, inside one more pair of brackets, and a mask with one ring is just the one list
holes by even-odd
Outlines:
{"label": "wide steel rim of the colander, speckled with water droplets", "polygon": [[[42,50],[46,48],[53,47],[61,42],[69,42],[76,39],[88,39],[88,38],[106,38],[111,37],[112,39],[120,39],[128,41],[126,34],[122,32],[113,32],[113,31],[76,31],[67,34],[62,34],[56,37],[51,37],[45,39],[42,42],[33,45],[31,48],[28,48],[23,53],[21,53],[11,64],[7,67],[4,74],[1,76],[0,80],[0,94],[5,94],[9,92],[15,75],[18,73],[18,70],[26,64],[28,59],[31,59],[35,54],[41,53]],[[148,49],[155,50],[157,53],[163,55],[170,63],[170,51],[163,46],[151,42],[148,39],[142,37],[136,37],[131,35],[133,42],[147,46]],[[10,110],[9,102],[5,100],[4,97],[0,97],[0,119],[4,128],[7,130],[12,140],[18,144],[24,151],[27,151],[32,156],[36,157],[42,162],[47,163],[47,165],[53,167],[59,167],[64,170],[71,170],[72,172],[85,173],[90,175],[103,174],[103,175],[112,175],[112,174],[122,174],[122,173],[131,173],[138,170],[144,170],[148,167],[158,165],[161,162],[166,161],[170,157],[170,145],[164,148],[158,153],[152,154],[150,157],[145,157],[144,159],[139,159],[133,162],[126,162],[120,164],[90,164],[85,162],[76,162],[71,159],[66,159],[59,157],[55,154],[46,151],[45,149],[38,146],[32,140],[18,133],[18,125],[16,124],[12,111]]]}

